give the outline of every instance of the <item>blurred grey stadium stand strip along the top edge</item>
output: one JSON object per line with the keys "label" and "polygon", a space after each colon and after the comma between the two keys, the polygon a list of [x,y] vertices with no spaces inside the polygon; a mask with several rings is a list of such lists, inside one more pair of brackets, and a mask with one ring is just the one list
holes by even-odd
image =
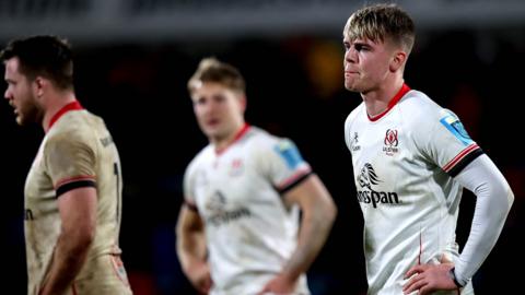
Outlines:
{"label": "blurred grey stadium stand strip along the top edge", "polygon": [[[351,0],[2,0],[0,38],[43,30],[90,44],[195,37],[334,34]],[[371,1],[369,1],[371,2]],[[373,1],[372,1],[373,2]],[[525,22],[523,0],[398,1],[421,28],[498,27]]]}

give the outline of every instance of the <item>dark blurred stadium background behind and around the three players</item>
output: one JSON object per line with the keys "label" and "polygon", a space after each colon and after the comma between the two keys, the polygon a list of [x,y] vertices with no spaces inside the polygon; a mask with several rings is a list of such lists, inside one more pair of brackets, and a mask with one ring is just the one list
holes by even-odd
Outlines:
{"label": "dark blurred stadium background behind and around the three players", "polygon": [[[505,228],[474,279],[477,294],[513,294],[523,288],[523,274],[512,269],[525,262],[518,236],[525,225],[520,140],[525,1],[397,2],[412,14],[418,31],[406,82],[454,110],[514,190]],[[343,88],[341,45],[348,16],[364,3],[0,1],[2,46],[33,34],[57,34],[73,44],[77,95],[105,119],[120,151],[120,246],[137,295],[195,294],[175,255],[174,227],[184,169],[207,143],[186,91],[207,56],[240,68],[247,81],[247,121],[294,140],[335,198],[338,219],[308,272],[313,294],[365,294],[362,215],[343,140],[343,121],[361,98]],[[9,294],[25,294],[23,187],[44,134],[39,126],[19,128],[7,103],[0,113],[0,247],[8,271],[0,280],[12,290]],[[462,246],[474,205],[474,196],[466,192],[457,228]]]}

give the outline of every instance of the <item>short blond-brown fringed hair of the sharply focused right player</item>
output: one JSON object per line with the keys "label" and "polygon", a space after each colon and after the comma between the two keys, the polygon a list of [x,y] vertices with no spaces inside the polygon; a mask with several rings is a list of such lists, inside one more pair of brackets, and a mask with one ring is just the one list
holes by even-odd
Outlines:
{"label": "short blond-brown fringed hair of the sharply focused right player", "polygon": [[385,42],[386,38],[410,54],[416,38],[412,19],[396,4],[374,4],[362,8],[348,19],[345,37]]}

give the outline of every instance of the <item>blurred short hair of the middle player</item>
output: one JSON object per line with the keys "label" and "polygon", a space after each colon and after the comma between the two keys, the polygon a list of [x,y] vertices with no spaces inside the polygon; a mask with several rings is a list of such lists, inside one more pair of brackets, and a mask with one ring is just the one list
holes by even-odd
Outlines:
{"label": "blurred short hair of the middle player", "polygon": [[197,71],[188,81],[189,93],[194,93],[205,82],[219,83],[242,94],[246,92],[246,82],[241,72],[235,67],[213,57],[200,61]]}

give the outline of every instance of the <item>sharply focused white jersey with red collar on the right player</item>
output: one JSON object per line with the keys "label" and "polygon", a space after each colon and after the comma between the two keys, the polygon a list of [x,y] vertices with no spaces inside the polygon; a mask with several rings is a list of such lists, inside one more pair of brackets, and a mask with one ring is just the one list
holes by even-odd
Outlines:
{"label": "sharply focused white jersey with red collar on the right player", "polygon": [[369,294],[402,294],[412,266],[457,259],[463,188],[453,177],[482,151],[452,111],[407,85],[374,118],[359,105],[345,141],[364,217]]}

